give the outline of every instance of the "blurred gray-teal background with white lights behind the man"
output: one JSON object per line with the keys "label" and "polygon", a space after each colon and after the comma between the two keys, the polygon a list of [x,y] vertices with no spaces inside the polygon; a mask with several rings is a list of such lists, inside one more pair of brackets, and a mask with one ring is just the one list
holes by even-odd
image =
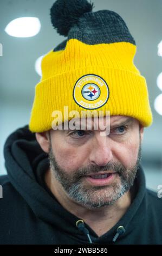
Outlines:
{"label": "blurred gray-teal background with white lights behind the man", "polygon": [[[29,123],[35,85],[41,77],[41,56],[65,39],[50,22],[49,10],[54,2],[0,1],[0,175],[6,173],[5,140],[11,132]],[[136,41],[134,64],[146,78],[153,113],[153,124],[144,132],[141,164],[147,187],[157,191],[162,184],[162,0],[92,2],[93,11],[109,9],[118,13]],[[10,23],[20,17],[37,19]]]}

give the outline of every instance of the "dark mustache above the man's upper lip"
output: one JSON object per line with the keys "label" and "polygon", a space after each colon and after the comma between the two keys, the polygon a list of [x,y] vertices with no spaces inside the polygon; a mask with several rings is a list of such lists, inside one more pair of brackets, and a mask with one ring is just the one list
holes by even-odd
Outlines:
{"label": "dark mustache above the man's upper lip", "polygon": [[78,169],[76,175],[84,176],[92,173],[108,172],[108,171],[113,171],[120,174],[126,171],[126,167],[123,166],[121,163],[116,163],[116,162],[108,162],[105,166],[97,166],[93,164],[93,165]]}

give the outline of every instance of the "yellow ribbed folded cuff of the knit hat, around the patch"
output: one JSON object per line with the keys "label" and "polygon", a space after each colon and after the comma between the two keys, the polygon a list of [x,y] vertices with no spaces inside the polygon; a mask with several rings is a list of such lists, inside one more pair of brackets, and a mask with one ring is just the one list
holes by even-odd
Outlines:
{"label": "yellow ribbed folded cuff of the knit hat, around the patch", "polygon": [[49,77],[36,85],[30,131],[43,132],[52,129],[53,111],[61,111],[63,114],[64,106],[68,106],[69,112],[75,110],[81,114],[81,111],[85,111],[85,108],[75,102],[73,89],[76,81],[88,74],[99,75],[108,85],[109,99],[100,110],[110,111],[110,115],[137,118],[145,127],[151,125],[152,113],[143,76],[127,70],[90,66]]}

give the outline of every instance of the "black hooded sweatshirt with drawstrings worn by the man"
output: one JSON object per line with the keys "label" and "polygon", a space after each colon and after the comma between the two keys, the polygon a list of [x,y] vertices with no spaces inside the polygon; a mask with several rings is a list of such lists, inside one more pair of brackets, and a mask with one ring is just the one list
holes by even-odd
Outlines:
{"label": "black hooded sweatshirt with drawstrings worn by the man", "polygon": [[[48,190],[43,179],[49,167],[48,155],[28,125],[8,137],[4,157],[8,175],[0,177],[0,244],[89,244],[86,231],[93,244],[162,244],[162,198],[146,189],[141,166],[131,206],[111,230],[99,237],[86,223],[85,229],[77,228],[79,218],[64,209]],[[119,226],[125,232],[118,235]]]}

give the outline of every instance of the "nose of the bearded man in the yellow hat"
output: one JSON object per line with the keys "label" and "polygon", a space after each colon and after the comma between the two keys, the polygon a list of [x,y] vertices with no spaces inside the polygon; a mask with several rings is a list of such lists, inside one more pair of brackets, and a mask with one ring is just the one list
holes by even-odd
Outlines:
{"label": "nose of the bearded man in the yellow hat", "polygon": [[98,166],[105,166],[112,161],[113,153],[111,143],[107,136],[95,136],[92,142],[92,150],[90,151],[89,161]]}

